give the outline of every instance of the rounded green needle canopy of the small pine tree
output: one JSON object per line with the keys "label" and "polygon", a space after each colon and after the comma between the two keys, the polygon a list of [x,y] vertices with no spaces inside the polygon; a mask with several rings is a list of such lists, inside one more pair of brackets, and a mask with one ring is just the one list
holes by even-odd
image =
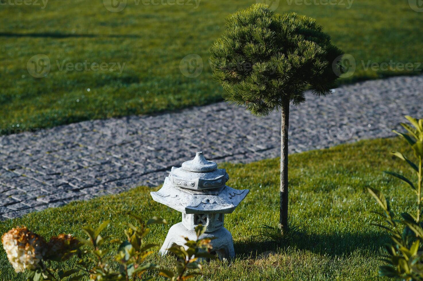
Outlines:
{"label": "rounded green needle canopy of the small pine tree", "polygon": [[275,14],[262,3],[228,16],[209,50],[225,100],[265,116],[287,102],[304,102],[309,88],[330,94],[343,52],[322,29],[315,19]]}

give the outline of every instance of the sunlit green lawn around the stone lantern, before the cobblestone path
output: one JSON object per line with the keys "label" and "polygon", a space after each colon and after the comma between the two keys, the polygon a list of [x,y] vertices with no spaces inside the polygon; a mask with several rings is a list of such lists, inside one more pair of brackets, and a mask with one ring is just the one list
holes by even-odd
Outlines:
{"label": "sunlit green lawn around the stone lantern, before the cobblestone path", "polygon": [[[391,197],[396,212],[407,211],[413,204],[408,186],[382,173],[388,169],[410,174],[404,163],[390,156],[391,150],[404,152],[407,148],[397,138],[376,139],[290,155],[291,218],[301,230],[279,246],[256,236],[259,226],[278,221],[279,160],[219,165],[228,170],[230,186],[249,188],[250,194],[233,214],[225,216],[225,227],[233,235],[236,259],[230,264],[214,261],[205,265],[204,280],[377,279],[380,247],[388,238],[370,225],[374,221],[371,211],[378,210],[378,206],[365,188],[381,189]],[[96,226],[110,219],[105,233],[123,239],[122,222],[129,221],[125,214],[132,212],[146,220],[161,216],[169,221],[169,225],[152,226],[147,236],[146,243],[161,244],[170,225],[181,220],[181,214],[154,202],[149,195],[151,190],[139,187],[123,194],[31,213],[0,222],[0,233],[25,225],[46,238],[62,232],[85,237],[81,226]],[[264,251],[277,254],[257,259]],[[167,267],[173,262],[169,257],[160,259],[157,254],[151,260]],[[70,262],[75,262],[75,258]],[[13,272],[3,248],[0,270],[2,280],[22,280],[24,276]]]}

